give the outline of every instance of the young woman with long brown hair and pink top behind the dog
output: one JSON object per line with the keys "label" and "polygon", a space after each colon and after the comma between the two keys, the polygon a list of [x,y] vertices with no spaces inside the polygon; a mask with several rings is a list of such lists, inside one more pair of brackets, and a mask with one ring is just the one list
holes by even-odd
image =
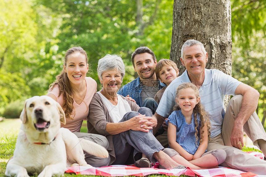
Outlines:
{"label": "young woman with long brown hair and pink top behind the dog", "polygon": [[[97,91],[96,81],[86,77],[88,69],[88,57],[84,49],[68,49],[63,70],[50,85],[47,95],[56,100],[65,112],[66,124],[61,124],[61,127],[69,129],[77,137],[94,141],[107,148],[109,143],[104,136],[80,133],[82,122],[89,113],[91,99]],[[85,153],[85,160],[88,164],[98,167],[108,165],[110,158],[99,158]]]}

